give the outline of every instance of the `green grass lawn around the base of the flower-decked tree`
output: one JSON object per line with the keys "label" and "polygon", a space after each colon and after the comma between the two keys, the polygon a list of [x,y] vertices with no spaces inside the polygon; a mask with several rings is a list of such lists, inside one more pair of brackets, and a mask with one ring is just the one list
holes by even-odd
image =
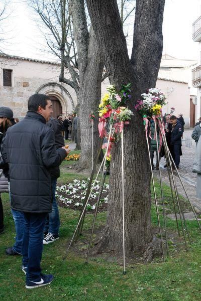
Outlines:
{"label": "green grass lawn around the base of the flower-decked tree", "polygon": [[[62,167],[66,164],[63,163]],[[61,173],[59,183],[73,179],[84,179],[84,175]],[[157,198],[160,196],[157,184]],[[164,186],[166,207],[171,197],[170,189]],[[5,232],[0,236],[0,300],[136,300],[136,301],[181,301],[201,300],[201,237],[195,221],[188,221],[188,229],[193,241],[189,251],[175,246],[171,233],[176,233],[175,221],[168,220],[170,256],[165,262],[155,258],[150,264],[135,264],[129,261],[127,274],[122,274],[122,266],[104,257],[90,258],[87,265],[79,253],[70,251],[63,261],[66,247],[73,235],[79,212],[59,208],[61,228],[60,239],[45,245],[42,268],[44,273],[53,273],[54,281],[47,286],[26,289],[25,274],[21,270],[21,256],[7,256],[5,248],[12,246],[15,236],[14,222],[10,212],[8,194],[2,194],[5,213]],[[185,200],[183,199],[185,203]],[[161,207],[159,207],[162,223]],[[84,233],[90,229],[93,215],[87,214]],[[95,228],[103,226],[106,212],[99,213]],[[152,206],[152,223],[157,219]],[[121,235],[121,234],[120,234]],[[180,249],[180,250],[178,250]]]}

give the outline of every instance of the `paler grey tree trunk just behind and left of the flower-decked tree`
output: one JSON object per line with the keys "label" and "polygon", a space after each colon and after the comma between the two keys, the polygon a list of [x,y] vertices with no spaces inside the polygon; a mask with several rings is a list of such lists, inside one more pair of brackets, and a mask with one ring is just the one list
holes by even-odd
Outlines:
{"label": "paler grey tree trunk just behind and left of the flower-decked tree", "polygon": [[[80,82],[80,132],[81,132],[81,156],[77,166],[78,171],[92,169],[92,135],[89,114],[97,112],[101,96],[102,74],[104,60],[100,54],[95,34],[90,29],[87,66]],[[97,114],[96,114],[97,115]],[[99,140],[98,118],[96,116],[93,124],[93,158],[97,154]]]}

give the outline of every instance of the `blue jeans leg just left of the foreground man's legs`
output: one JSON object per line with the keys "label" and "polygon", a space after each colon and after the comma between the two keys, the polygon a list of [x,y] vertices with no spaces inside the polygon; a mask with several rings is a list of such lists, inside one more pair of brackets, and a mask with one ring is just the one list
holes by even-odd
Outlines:
{"label": "blue jeans leg just left of the foreground man's legs", "polygon": [[[9,182],[9,197],[11,200],[11,193],[10,193],[10,182]],[[24,233],[24,225],[25,225],[25,219],[24,219],[24,212],[17,211],[14,209],[11,209],[14,223],[15,223],[15,229],[16,229],[16,242],[13,245],[13,250],[19,254],[22,255],[22,241],[23,241],[23,233]]]}

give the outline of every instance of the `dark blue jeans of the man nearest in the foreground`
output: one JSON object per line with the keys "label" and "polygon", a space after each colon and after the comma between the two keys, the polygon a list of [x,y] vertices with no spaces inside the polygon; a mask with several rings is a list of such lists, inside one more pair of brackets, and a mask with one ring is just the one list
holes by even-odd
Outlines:
{"label": "dark blue jeans of the man nearest in the foreground", "polygon": [[24,213],[25,226],[22,243],[23,266],[28,266],[27,280],[40,278],[43,252],[43,229],[48,213]]}

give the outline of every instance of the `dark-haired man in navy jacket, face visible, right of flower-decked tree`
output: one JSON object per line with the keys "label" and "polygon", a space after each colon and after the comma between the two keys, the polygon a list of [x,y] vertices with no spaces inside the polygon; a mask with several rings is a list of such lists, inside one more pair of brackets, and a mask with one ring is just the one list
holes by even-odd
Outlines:
{"label": "dark-haired man in navy jacket, face visible, right of flower-decked tree", "polygon": [[[170,120],[172,122],[172,131],[171,131],[171,145],[173,149],[173,160],[176,165],[176,168],[179,168],[179,163],[180,163],[180,154],[181,154],[181,137],[183,134],[182,131],[182,125],[176,119],[176,116],[172,115],[170,117]],[[174,167],[173,167],[174,168]]]}

